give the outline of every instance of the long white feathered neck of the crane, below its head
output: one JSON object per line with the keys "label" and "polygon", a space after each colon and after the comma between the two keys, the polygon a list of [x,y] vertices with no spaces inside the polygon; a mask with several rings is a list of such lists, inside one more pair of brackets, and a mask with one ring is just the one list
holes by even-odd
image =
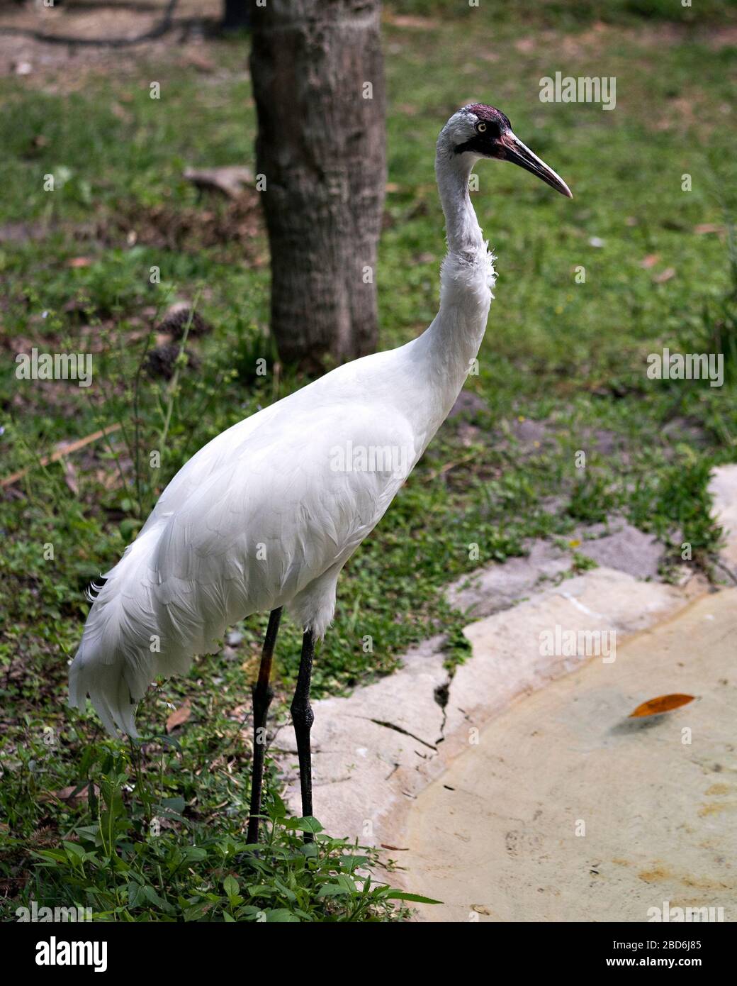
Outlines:
{"label": "long white feathered neck of the crane, below its head", "polygon": [[473,163],[471,155],[454,154],[444,132],[440,134],[436,178],[448,252],[440,270],[440,310],[416,340],[415,351],[434,391],[435,428],[447,416],[473,367],[494,287],[493,257],[468,192]]}

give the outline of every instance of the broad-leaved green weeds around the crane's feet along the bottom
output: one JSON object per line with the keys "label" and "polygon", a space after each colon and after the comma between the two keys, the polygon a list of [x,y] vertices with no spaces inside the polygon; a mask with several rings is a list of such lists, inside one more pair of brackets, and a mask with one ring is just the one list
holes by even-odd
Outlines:
{"label": "broad-leaved green weeds around the crane's feet along the bottom", "polygon": [[[31,874],[6,894],[11,914],[35,900],[91,908],[100,921],[372,922],[402,920],[408,903],[433,902],[377,882],[376,850],[325,835],[314,818],[289,817],[278,796],[257,846],[233,825],[195,821],[183,798],[166,797],[163,771],[142,771],[140,744],[86,747],[85,779],[63,799],[47,799],[65,819],[58,839],[24,839],[50,767],[39,762],[48,759],[41,746],[19,747],[3,778],[14,804],[26,807],[0,831],[0,880],[9,886]],[[304,843],[304,831],[315,841]]]}

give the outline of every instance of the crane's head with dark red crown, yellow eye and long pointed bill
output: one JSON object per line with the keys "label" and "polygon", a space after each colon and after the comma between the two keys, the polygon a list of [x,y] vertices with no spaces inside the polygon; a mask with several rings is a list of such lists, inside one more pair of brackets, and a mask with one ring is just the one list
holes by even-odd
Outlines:
{"label": "crane's head with dark red crown, yellow eye and long pointed bill", "polygon": [[474,161],[478,158],[511,161],[513,165],[519,165],[526,172],[542,178],[562,195],[573,197],[563,178],[514,135],[511,123],[501,109],[483,103],[463,106],[453,113],[443,127],[440,139],[443,137],[445,146],[453,155],[470,155]]}

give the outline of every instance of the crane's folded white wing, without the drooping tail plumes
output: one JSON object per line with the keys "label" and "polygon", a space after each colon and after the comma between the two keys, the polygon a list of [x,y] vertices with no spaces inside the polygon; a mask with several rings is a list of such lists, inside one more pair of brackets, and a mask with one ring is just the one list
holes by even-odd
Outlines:
{"label": "crane's folded white wing, without the drooping tail plumes", "polygon": [[382,422],[360,405],[253,431],[159,536],[150,584],[167,650],[207,651],[234,619],[281,605],[344,564],[416,454],[408,422]]}

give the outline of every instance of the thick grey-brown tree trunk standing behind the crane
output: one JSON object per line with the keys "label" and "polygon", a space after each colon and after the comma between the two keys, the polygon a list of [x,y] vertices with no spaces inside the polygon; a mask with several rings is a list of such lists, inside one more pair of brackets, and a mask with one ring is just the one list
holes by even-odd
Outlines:
{"label": "thick grey-brown tree trunk standing behind the crane", "polygon": [[252,8],[272,330],[282,360],[310,371],[376,344],[385,184],[380,6],[267,0]]}

